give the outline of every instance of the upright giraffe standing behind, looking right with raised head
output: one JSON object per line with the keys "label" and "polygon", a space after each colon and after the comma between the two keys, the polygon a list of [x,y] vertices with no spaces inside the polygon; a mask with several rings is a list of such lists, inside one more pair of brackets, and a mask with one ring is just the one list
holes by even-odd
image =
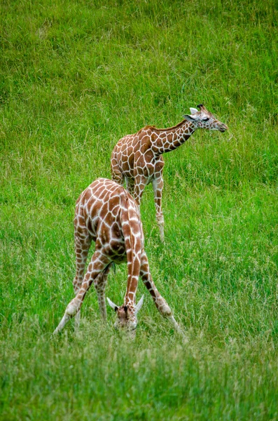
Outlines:
{"label": "upright giraffe standing behind, looking right with raised head", "polygon": [[153,185],[155,199],[155,218],[158,222],[160,240],[164,241],[164,217],[162,213],[162,154],[181,146],[197,128],[218,130],[222,133],[228,127],[218,121],[204,105],[190,108],[191,114],[183,116],[183,121],[174,127],[156,128],[146,126],[133,135],[120,139],[111,155],[112,179],[118,184],[126,182],[130,192],[140,206],[144,188],[150,182]]}

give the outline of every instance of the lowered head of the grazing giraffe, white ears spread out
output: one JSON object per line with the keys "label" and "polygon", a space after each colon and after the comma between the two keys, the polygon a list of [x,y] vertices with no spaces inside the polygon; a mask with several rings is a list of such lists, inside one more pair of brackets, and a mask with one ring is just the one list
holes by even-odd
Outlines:
{"label": "lowered head of the grazing giraffe, white ears spread out", "polygon": [[132,305],[121,305],[118,307],[113,301],[109,300],[107,297],[107,301],[109,302],[110,307],[115,310],[116,312],[116,321],[114,323],[114,328],[126,328],[127,330],[134,330],[137,328],[137,313],[139,309],[141,309],[143,305],[144,295],[142,295],[141,299],[134,307]]}

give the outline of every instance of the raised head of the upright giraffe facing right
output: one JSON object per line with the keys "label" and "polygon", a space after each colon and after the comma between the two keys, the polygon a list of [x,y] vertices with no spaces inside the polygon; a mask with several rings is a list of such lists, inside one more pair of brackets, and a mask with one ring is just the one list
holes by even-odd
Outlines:
{"label": "raised head of the upright giraffe facing right", "polygon": [[218,130],[222,133],[228,130],[228,126],[221,121],[217,120],[211,112],[207,110],[204,105],[197,105],[200,111],[196,108],[190,108],[191,114],[186,114],[183,116],[183,119],[193,123],[195,129],[197,128],[207,128],[208,130]]}

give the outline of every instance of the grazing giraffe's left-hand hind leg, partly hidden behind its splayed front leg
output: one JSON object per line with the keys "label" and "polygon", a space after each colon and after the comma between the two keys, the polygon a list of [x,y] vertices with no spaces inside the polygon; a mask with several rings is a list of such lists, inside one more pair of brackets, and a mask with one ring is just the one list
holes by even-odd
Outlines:
{"label": "grazing giraffe's left-hand hind leg, partly hidden behind its splayed front leg", "polygon": [[[76,253],[76,276],[74,277],[74,293],[78,293],[84,276],[85,264],[90,249],[92,238],[88,234],[87,229],[75,229],[74,232],[74,248]],[[75,329],[78,330],[80,325],[80,312],[75,316]]]}

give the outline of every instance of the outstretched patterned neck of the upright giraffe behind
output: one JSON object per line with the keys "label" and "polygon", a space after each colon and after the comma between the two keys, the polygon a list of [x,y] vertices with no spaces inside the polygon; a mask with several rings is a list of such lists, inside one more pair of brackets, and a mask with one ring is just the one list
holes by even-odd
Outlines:
{"label": "outstretched patterned neck of the upright giraffe behind", "polygon": [[182,121],[171,128],[153,128],[153,132],[155,134],[155,136],[152,136],[153,152],[162,155],[174,151],[186,142],[190,135],[195,132],[195,128],[190,121]]}

